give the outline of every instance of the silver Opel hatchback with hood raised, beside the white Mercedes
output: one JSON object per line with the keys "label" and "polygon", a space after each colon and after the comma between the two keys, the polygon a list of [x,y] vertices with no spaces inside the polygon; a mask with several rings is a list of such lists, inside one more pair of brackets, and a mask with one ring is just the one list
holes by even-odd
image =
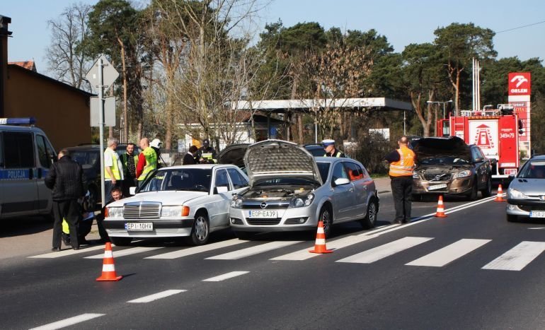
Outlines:
{"label": "silver Opel hatchback with hood raised, beside the white Mercedes", "polygon": [[333,223],[377,221],[379,196],[365,167],[350,158],[314,158],[296,143],[267,140],[248,146],[250,187],[233,196],[229,218],[237,237],[255,232],[316,230]]}

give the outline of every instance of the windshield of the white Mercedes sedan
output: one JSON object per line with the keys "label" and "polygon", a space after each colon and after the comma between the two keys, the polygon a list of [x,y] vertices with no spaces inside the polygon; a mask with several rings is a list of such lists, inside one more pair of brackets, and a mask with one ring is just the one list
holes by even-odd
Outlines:
{"label": "windshield of the white Mercedes sedan", "polygon": [[159,170],[147,180],[139,192],[146,191],[210,191],[210,168]]}

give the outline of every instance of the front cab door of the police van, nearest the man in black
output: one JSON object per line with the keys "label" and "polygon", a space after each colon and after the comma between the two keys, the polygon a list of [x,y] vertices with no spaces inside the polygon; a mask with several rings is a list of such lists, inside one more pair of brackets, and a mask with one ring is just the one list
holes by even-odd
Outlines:
{"label": "front cab door of the police van, nearest the man in black", "polygon": [[35,137],[38,149],[38,165],[35,171],[35,180],[38,185],[38,209],[42,213],[49,213],[52,206],[51,189],[45,187],[45,177],[51,165],[57,160],[57,155],[45,136],[36,134]]}

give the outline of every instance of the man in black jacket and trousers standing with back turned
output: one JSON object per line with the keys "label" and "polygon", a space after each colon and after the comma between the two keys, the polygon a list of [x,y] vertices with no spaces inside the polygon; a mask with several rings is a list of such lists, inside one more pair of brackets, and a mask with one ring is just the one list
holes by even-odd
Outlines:
{"label": "man in black jacket and trousers standing with back turned", "polygon": [[61,250],[62,219],[66,219],[70,229],[72,249],[79,249],[77,224],[81,218],[78,199],[87,191],[87,182],[81,165],[70,158],[69,151],[62,149],[59,161],[54,163],[45,177],[45,185],[52,189],[53,199],[53,248]]}

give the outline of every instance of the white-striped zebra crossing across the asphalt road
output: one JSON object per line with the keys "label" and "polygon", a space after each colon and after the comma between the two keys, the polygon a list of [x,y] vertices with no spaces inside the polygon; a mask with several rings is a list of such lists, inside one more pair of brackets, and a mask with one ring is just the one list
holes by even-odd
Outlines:
{"label": "white-striped zebra crossing across the asphalt road", "polygon": [[[334,251],[350,247],[355,244],[360,244],[376,238],[380,233],[369,232],[365,235],[352,235],[347,237],[340,237],[335,240],[330,240],[327,243],[328,249]],[[350,263],[350,264],[373,264],[374,262],[386,259],[394,254],[400,254],[408,249],[413,249],[420,245],[426,244],[435,240],[435,237],[403,237],[386,244],[381,244],[371,249],[365,249],[362,252],[352,254],[348,257],[341,259],[335,258],[335,254],[328,256],[332,261],[338,263]],[[444,247],[425,254],[418,259],[410,261],[405,266],[425,266],[425,267],[444,267],[451,264],[453,261],[467,257],[471,252],[479,249],[492,240],[486,239],[466,239],[462,238],[451,244],[447,244]],[[256,244],[257,243],[257,244]],[[311,258],[321,256],[321,254],[309,253],[311,242],[304,241],[272,241],[272,242],[249,242],[244,240],[232,239],[222,242],[214,242],[207,245],[198,247],[180,247],[175,251],[168,251],[164,253],[154,254],[151,256],[143,257],[143,259],[180,259],[183,257],[189,257],[196,254],[205,254],[205,252],[212,252],[212,256],[208,254],[203,256],[203,259],[207,260],[237,260],[246,257],[256,256],[259,254],[265,254],[265,252],[274,253],[275,251],[284,252],[289,247],[299,247],[295,251],[287,254],[280,254],[274,257],[270,257],[271,261],[305,261]],[[301,246],[305,246],[301,249]],[[233,248],[234,251],[222,252],[222,249]],[[64,250],[62,252],[52,252],[47,254],[40,254],[29,258],[59,258],[69,257],[76,254],[84,254],[86,252],[96,251],[102,247],[88,247],[86,249],[79,249],[74,251],[71,249]],[[126,257],[137,254],[143,254],[149,252],[161,252],[166,249],[165,247],[129,247],[114,250],[114,257]],[[282,250],[280,250],[282,249]],[[483,270],[501,270],[501,271],[521,271],[537,259],[541,253],[545,251],[545,242],[530,242],[522,241],[514,247],[507,249],[507,251],[501,251],[499,256],[495,257],[488,264],[481,267]],[[215,254],[218,252],[218,254]],[[323,257],[323,256],[322,256]],[[91,256],[82,257],[84,259],[102,259],[103,254],[94,254]]]}

